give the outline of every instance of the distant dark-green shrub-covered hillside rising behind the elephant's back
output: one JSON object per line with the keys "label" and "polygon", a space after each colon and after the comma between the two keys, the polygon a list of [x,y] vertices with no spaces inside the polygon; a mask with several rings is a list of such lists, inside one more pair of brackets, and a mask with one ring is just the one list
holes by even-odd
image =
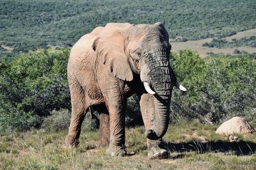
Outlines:
{"label": "distant dark-green shrub-covered hillside rising behind the elephant's back", "polygon": [[0,55],[71,46],[108,22],[163,22],[177,41],[225,37],[255,28],[255,10],[254,0],[0,1]]}

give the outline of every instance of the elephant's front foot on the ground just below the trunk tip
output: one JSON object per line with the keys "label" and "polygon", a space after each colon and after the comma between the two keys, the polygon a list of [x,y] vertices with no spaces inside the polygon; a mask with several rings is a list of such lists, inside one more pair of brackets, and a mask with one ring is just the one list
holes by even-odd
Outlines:
{"label": "elephant's front foot on the ground just below the trunk tip", "polygon": [[164,147],[162,139],[148,140],[148,159],[168,159],[169,152]]}

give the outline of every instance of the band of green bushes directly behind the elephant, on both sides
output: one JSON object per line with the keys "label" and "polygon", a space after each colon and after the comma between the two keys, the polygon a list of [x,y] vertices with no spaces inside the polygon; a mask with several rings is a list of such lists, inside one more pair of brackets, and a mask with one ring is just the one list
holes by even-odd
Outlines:
{"label": "band of green bushes directly behind the elephant, on both sides", "polygon": [[[0,61],[0,133],[48,124],[61,129],[65,126],[61,121],[68,126],[68,53],[67,48],[51,48]],[[173,90],[172,121],[196,118],[215,124],[234,115],[255,121],[256,62],[248,55],[203,59],[182,50],[172,53],[170,61],[178,80],[188,88]],[[126,124],[141,124],[138,98],[128,101]]]}

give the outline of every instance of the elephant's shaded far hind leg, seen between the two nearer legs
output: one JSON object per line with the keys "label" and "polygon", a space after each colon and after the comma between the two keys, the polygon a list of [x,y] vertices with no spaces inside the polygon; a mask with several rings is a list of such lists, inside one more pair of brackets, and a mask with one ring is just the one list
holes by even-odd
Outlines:
{"label": "elephant's shaded far hind leg, seen between the two nearer legs", "polygon": [[100,115],[100,146],[109,146],[109,113],[105,105],[97,106],[96,110]]}

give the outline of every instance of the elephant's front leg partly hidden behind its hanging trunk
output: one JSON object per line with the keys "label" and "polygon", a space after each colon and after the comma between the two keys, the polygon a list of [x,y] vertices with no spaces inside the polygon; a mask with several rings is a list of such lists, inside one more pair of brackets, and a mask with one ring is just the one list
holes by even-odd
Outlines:
{"label": "elephant's front leg partly hidden behind its hanging trunk", "polygon": [[[140,109],[146,131],[150,129],[154,119],[154,96],[152,94],[142,94],[140,96]],[[150,140],[147,139],[148,159],[166,159],[168,151],[164,148],[162,139]]]}

